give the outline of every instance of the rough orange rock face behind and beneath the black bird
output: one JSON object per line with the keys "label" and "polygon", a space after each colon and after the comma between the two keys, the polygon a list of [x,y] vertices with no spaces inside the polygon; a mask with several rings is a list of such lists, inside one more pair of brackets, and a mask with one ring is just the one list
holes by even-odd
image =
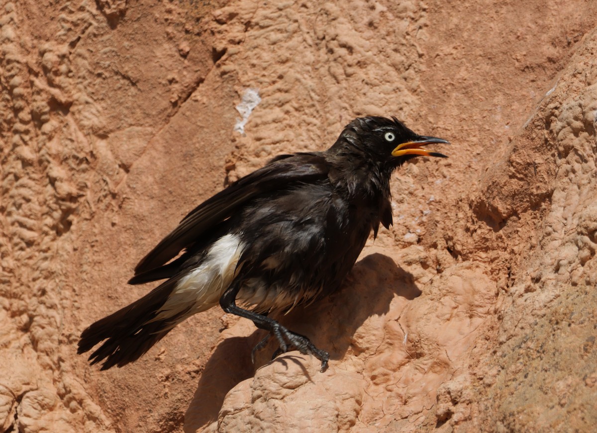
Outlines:
{"label": "rough orange rock face behind and beneath the black bird", "polygon": [[[0,3],[0,431],[592,431],[597,5]],[[363,115],[450,140],[392,181],[343,289],[251,363],[214,309],[100,372],[81,331],[151,289],[190,209]]]}

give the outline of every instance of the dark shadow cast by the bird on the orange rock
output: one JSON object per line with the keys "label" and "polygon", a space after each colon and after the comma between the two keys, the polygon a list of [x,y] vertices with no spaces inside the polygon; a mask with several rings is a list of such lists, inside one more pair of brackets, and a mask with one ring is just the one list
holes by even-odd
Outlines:
{"label": "dark shadow cast by the bird on the orange rock", "polygon": [[[337,360],[346,354],[353,335],[368,317],[387,313],[395,296],[412,300],[420,295],[412,274],[399,268],[388,256],[374,253],[355,265],[338,292],[275,318],[288,329],[309,336],[316,347],[330,352],[331,360]],[[276,348],[275,342],[270,341],[258,352],[254,365],[251,350],[265,335],[263,330],[256,330],[248,337],[228,338],[218,345],[205,364],[184,415],[185,432],[195,432],[217,420],[226,394],[253,377],[258,367],[291,360],[292,357],[280,356],[270,361]]]}

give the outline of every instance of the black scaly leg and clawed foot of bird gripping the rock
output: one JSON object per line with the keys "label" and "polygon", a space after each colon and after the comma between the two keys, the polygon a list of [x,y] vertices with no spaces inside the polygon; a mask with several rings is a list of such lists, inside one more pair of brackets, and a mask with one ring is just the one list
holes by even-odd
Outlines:
{"label": "black scaly leg and clawed foot of bird gripping the rock", "polygon": [[[270,335],[275,336],[278,340],[279,349],[274,353],[274,357],[278,353],[287,352],[288,346],[291,345],[302,354],[312,354],[319,361],[321,361],[322,372],[327,369],[328,360],[330,360],[330,354],[328,354],[328,352],[325,350],[316,348],[309,338],[286,329],[284,326],[279,324],[278,321],[273,320],[273,318],[269,318],[263,314],[254,313],[253,311],[238,307],[236,305],[236,294],[238,293],[239,288],[240,287],[238,284],[230,286],[221,296],[220,305],[222,309],[226,311],[226,313],[236,314],[236,316],[248,318],[253,321],[255,326],[260,329],[267,330],[269,331]],[[257,344],[257,346],[251,352],[251,357],[253,357],[256,350],[263,348],[264,345],[267,344],[268,340],[269,335]]]}

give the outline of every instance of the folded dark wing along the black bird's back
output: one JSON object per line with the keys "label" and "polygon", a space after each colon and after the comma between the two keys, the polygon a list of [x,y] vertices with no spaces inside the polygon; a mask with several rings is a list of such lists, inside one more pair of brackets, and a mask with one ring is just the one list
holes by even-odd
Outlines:
{"label": "folded dark wing along the black bird's back", "polygon": [[325,179],[328,171],[328,164],[321,153],[296,153],[276,157],[263,168],[239,179],[193,209],[180,221],[178,227],[141,259],[135,268],[135,275],[164,265],[254,197],[283,190],[296,183]]}

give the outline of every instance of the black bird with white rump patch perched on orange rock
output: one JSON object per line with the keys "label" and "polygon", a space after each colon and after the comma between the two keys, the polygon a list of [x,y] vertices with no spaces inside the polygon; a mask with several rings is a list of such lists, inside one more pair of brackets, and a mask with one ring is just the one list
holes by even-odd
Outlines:
{"label": "black bird with white rump patch perched on orange rock", "polygon": [[328,367],[330,355],[272,318],[336,292],[379,225],[392,224],[390,179],[424,149],[450,144],[396,117],[352,120],[325,151],[274,157],[189,212],[134,268],[129,284],[164,280],[87,327],[78,354],[101,370],[136,361],[177,324],[216,307]]}

